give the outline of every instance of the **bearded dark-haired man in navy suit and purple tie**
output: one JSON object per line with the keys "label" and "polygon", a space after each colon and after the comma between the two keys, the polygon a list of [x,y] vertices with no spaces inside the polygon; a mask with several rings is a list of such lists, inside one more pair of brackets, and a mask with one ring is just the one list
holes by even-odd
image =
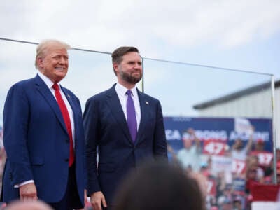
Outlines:
{"label": "bearded dark-haired man in navy suit and purple tie", "polygon": [[118,83],[88,99],[84,112],[87,193],[94,210],[117,204],[114,193],[130,169],[143,160],[167,159],[160,102],[135,87],[142,78],[138,49],[120,47],[112,62]]}

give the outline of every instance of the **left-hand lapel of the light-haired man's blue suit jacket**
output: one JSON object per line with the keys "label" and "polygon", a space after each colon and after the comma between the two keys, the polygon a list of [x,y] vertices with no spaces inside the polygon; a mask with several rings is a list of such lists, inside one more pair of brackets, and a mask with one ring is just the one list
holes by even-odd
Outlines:
{"label": "left-hand lapel of the light-haired man's blue suit jacket", "polygon": [[43,80],[38,75],[34,79],[35,79],[35,85],[36,85],[38,92],[40,92],[42,94],[42,96],[45,98],[45,101],[48,102],[48,104],[50,105],[52,110],[55,112],[55,116],[57,116],[59,123],[62,125],[65,132],[68,134],[66,127],[65,127],[63,117],[62,117],[62,113],[59,109],[59,106],[57,104],[55,97],[48,89],[48,86],[45,85]]}

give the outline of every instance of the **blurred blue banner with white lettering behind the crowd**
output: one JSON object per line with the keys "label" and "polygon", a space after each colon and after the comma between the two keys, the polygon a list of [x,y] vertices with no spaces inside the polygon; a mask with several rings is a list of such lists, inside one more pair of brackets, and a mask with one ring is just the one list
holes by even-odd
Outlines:
{"label": "blurred blue banner with white lettering behind the crowd", "polygon": [[246,145],[263,141],[265,151],[272,152],[272,120],[269,118],[187,118],[165,117],[167,144],[175,153],[183,147],[182,139],[188,137],[186,130],[193,128],[202,144],[202,153],[223,155],[239,138]]}

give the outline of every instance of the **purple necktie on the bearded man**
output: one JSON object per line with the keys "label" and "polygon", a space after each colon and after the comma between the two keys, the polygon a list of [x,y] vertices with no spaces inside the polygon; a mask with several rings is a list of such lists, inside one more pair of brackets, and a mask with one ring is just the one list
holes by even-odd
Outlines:
{"label": "purple necktie on the bearded man", "polygon": [[130,129],[132,140],[135,141],[137,136],[137,120],[131,90],[127,90],[127,125]]}

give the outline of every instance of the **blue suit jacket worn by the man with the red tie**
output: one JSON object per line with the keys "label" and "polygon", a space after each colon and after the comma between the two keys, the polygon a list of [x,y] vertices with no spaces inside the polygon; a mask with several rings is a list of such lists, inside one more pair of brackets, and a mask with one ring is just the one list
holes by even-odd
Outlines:
{"label": "blue suit jacket worn by the man with the red tie", "polygon": [[[83,116],[78,98],[64,87],[62,91],[73,110],[76,181],[83,203],[86,185]],[[38,75],[10,88],[3,127],[7,153],[3,201],[18,199],[19,190],[14,185],[33,179],[40,200],[59,202],[69,174],[69,136],[55,97]]]}

